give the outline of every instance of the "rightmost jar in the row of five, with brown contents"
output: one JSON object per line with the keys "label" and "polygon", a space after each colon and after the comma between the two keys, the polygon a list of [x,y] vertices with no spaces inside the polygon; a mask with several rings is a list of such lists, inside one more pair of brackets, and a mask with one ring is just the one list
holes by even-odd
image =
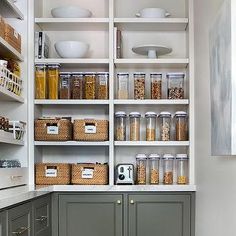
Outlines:
{"label": "rightmost jar in the row of five, with brown contents", "polygon": [[175,139],[176,141],[188,140],[188,116],[184,111],[175,113]]}

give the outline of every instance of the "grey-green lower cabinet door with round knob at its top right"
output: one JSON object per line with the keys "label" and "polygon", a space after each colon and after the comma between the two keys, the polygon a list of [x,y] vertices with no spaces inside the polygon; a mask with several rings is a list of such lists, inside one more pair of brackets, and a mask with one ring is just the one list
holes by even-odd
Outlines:
{"label": "grey-green lower cabinet door with round knob at its top right", "polygon": [[59,236],[122,236],[122,195],[59,195]]}

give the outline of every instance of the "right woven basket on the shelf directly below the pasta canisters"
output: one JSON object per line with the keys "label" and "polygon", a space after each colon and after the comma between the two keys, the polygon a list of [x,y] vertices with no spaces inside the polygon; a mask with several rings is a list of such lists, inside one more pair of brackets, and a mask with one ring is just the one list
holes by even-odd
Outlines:
{"label": "right woven basket on the shelf directly below the pasta canisters", "polygon": [[74,140],[78,141],[107,141],[107,120],[75,120]]}

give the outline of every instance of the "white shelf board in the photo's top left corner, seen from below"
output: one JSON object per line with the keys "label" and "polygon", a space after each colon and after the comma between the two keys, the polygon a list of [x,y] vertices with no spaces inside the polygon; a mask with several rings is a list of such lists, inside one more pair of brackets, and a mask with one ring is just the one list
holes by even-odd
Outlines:
{"label": "white shelf board in the photo's top left corner, seen from below", "polygon": [[23,13],[18,9],[12,0],[0,1],[0,15],[5,18],[17,18],[24,20]]}

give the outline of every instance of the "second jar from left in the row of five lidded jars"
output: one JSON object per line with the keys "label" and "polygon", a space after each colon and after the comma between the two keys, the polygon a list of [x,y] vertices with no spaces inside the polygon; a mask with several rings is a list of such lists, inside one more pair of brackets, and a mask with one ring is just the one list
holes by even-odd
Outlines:
{"label": "second jar from left in the row of five lidded jars", "polygon": [[140,141],[140,118],[139,112],[131,112],[130,117],[130,141]]}

